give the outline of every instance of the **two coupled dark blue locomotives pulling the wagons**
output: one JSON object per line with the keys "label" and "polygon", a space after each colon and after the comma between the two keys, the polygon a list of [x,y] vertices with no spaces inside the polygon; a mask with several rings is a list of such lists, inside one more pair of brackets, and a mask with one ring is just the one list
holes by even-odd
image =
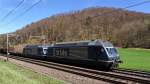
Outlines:
{"label": "two coupled dark blue locomotives pulling the wagons", "polygon": [[107,70],[116,69],[121,63],[117,49],[104,40],[61,42],[47,46],[27,45],[20,54],[30,58]]}

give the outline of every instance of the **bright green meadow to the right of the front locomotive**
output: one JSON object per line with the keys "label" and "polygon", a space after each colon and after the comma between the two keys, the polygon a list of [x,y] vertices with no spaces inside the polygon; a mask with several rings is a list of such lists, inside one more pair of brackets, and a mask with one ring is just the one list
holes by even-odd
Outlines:
{"label": "bright green meadow to the right of the front locomotive", "polygon": [[120,68],[150,71],[150,50],[139,48],[119,48]]}

